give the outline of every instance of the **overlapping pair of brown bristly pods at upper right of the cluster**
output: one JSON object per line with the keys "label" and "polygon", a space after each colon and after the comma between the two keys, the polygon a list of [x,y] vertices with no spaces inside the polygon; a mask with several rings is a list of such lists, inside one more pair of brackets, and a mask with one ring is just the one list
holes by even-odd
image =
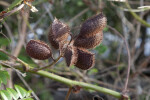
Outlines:
{"label": "overlapping pair of brown bristly pods at upper right of the cluster", "polygon": [[87,19],[81,26],[74,46],[85,49],[95,48],[103,40],[103,29],[106,23],[107,19],[102,13]]}

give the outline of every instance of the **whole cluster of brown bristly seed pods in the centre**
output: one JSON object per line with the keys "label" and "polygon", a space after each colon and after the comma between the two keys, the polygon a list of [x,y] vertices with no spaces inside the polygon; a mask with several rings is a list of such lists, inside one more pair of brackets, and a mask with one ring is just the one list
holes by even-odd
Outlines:
{"label": "whole cluster of brown bristly seed pods in the centre", "polygon": [[[106,21],[102,13],[87,19],[82,24],[78,36],[68,45],[70,28],[55,18],[48,34],[49,42],[55,49],[60,50],[67,66],[75,65],[82,70],[90,69],[95,64],[95,55],[87,49],[95,48],[102,42]],[[39,40],[30,40],[26,46],[26,52],[30,57],[39,60],[52,57],[49,46]]]}

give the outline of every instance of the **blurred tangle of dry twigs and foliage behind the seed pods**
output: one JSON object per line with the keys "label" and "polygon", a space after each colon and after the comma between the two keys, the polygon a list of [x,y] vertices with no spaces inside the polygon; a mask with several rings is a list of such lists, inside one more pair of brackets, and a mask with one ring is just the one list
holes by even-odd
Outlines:
{"label": "blurred tangle of dry twigs and foliage behind the seed pods", "polygon": [[[12,2],[12,0],[0,1],[0,12],[11,7]],[[131,55],[128,95],[131,100],[150,100],[150,10],[149,8],[138,9],[138,7],[150,5],[149,0],[129,0],[128,3],[108,0],[35,0],[32,5],[38,9],[38,12],[31,12],[30,7],[25,5],[23,9],[0,20],[0,49],[18,57],[30,66],[46,66],[52,62],[51,59],[40,61],[26,54],[26,43],[30,39],[39,39],[48,43],[49,26],[55,17],[67,23],[73,34],[78,34],[84,20],[103,11],[107,17],[108,26],[103,31],[102,44],[91,50],[96,54],[95,66],[90,70],[82,71],[75,66],[66,67],[64,60],[60,59],[47,71],[121,93],[126,81],[129,54],[123,39],[115,34],[114,30],[117,30],[127,41]],[[58,51],[55,49],[52,51],[54,58],[57,58]],[[14,84],[18,84],[26,89],[25,93],[32,89],[34,99],[36,96],[40,100],[65,99],[67,85],[30,72],[26,73],[26,77],[22,77],[25,76],[24,72],[5,68],[4,63],[9,64],[7,66],[22,66],[0,52],[2,71],[7,70],[6,73],[9,73],[2,76],[0,72],[2,90],[6,90],[6,87],[13,88]],[[104,100],[116,99],[100,92],[81,89],[79,93],[72,93],[69,100],[92,100],[94,96]]]}

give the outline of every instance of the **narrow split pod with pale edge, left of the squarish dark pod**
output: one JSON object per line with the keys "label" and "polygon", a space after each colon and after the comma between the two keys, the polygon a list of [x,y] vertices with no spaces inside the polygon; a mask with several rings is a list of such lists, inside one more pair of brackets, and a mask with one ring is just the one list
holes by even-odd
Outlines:
{"label": "narrow split pod with pale edge, left of the squarish dark pod", "polygon": [[65,49],[64,58],[66,60],[67,66],[74,65],[77,62],[77,48],[73,46],[68,46]]}

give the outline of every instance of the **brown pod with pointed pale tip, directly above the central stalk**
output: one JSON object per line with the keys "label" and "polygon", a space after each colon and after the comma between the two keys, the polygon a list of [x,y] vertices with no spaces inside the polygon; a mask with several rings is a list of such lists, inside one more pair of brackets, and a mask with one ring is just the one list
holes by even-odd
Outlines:
{"label": "brown pod with pointed pale tip, directly above the central stalk", "polygon": [[65,42],[69,34],[70,34],[69,27],[55,18],[52,25],[50,26],[48,39],[50,44],[55,49],[59,49],[59,44]]}

